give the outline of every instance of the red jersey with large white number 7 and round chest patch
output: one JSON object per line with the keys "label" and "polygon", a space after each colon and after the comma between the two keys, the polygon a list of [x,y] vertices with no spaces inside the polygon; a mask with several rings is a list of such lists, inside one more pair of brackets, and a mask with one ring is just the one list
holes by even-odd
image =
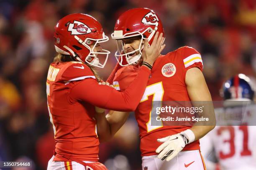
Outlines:
{"label": "red jersey with large white number 7 and round chest patch", "polygon": [[[156,155],[155,150],[161,145],[157,142],[158,138],[174,135],[191,128],[191,126],[153,126],[151,125],[151,109],[160,103],[155,102],[154,104],[153,101],[190,101],[185,76],[187,70],[192,67],[202,70],[202,58],[199,52],[187,46],[161,55],[154,62],[146,90],[135,111],[140,129],[142,156]],[[119,69],[113,79],[114,87],[124,90],[134,79],[138,70],[135,66]],[[186,145],[183,150],[199,148],[199,140],[197,140]]]}

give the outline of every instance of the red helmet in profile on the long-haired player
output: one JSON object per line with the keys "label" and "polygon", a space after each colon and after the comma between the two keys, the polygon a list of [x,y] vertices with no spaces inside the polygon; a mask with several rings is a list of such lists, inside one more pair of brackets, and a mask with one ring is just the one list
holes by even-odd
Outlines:
{"label": "red helmet in profile on the long-haired player", "polygon": [[[61,18],[54,28],[56,52],[71,55],[78,61],[103,68],[108,60],[108,50],[94,52],[97,43],[108,41],[100,23],[90,15],[70,14]],[[94,44],[93,44],[94,43]],[[93,45],[91,48],[90,45]],[[105,55],[100,63],[98,54]]]}

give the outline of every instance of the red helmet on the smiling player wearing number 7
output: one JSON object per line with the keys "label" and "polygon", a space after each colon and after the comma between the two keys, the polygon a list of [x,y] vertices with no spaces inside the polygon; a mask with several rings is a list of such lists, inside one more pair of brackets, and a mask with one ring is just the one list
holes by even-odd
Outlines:
{"label": "red helmet on the smiling player wearing number 7", "polygon": [[[114,32],[111,34],[113,39],[117,40],[118,50],[115,52],[115,57],[121,66],[136,65],[141,58],[141,50],[143,49],[143,39],[148,38],[149,45],[151,45],[156,31],[159,34],[162,32],[164,37],[164,29],[160,18],[153,10],[148,8],[134,8],[123,13],[115,23]],[[141,42],[138,49],[131,52],[125,52],[122,39],[128,37],[135,37],[141,35]],[[135,52],[138,55],[130,57]],[[123,60],[125,56],[126,60]]]}

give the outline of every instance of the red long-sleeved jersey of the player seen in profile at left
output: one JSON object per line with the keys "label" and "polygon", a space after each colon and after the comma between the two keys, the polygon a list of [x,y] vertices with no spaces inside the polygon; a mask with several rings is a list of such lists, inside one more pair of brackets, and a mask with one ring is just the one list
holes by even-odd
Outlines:
{"label": "red long-sleeved jersey of the player seen in profile at left", "polygon": [[[150,71],[143,67],[138,74],[146,88]],[[124,92],[99,85],[90,68],[82,62],[53,62],[47,75],[46,92],[50,121],[54,128],[54,161],[68,161],[62,155],[79,160],[97,161],[95,106],[111,110],[135,110],[143,89],[134,81]],[[118,103],[119,105],[116,105]]]}

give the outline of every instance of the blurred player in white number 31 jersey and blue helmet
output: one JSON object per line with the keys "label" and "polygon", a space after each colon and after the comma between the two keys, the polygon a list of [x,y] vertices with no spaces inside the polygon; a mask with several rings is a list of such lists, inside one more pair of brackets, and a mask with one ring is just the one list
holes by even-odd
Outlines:
{"label": "blurred player in white number 31 jersey and blue helmet", "polygon": [[207,170],[256,170],[256,105],[250,79],[236,75],[223,85],[223,108],[215,109],[217,126],[200,139],[205,158],[214,153],[217,163],[206,161]]}

